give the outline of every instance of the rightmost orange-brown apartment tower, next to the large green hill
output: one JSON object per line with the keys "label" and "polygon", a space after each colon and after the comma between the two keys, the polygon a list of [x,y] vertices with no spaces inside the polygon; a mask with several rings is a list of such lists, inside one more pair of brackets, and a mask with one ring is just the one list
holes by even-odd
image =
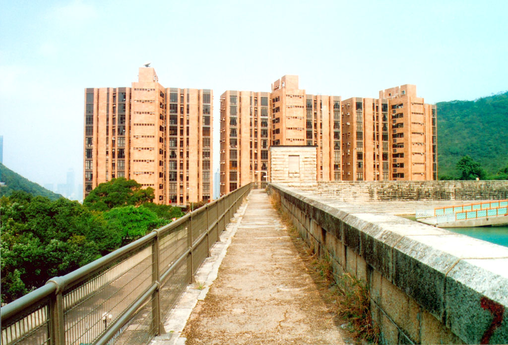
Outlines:
{"label": "rightmost orange-brown apartment tower, next to the large green hill", "polygon": [[436,107],[415,85],[342,101],[342,180],[436,180]]}

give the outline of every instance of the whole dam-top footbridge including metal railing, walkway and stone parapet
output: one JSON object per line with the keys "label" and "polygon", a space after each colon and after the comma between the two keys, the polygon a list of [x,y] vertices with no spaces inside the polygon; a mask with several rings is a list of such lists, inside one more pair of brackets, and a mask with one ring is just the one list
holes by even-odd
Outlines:
{"label": "whole dam-top footbridge including metal railing, walkway and stone parapet", "polygon": [[[335,277],[365,284],[382,342],[508,343],[508,248],[330,192],[258,187],[245,185],[2,307],[2,343],[350,342],[268,194],[307,245],[330,258]],[[214,255],[222,263],[207,277],[216,279],[198,281],[198,269],[218,265]],[[179,309],[188,322],[173,329],[189,290],[199,291],[196,307]]]}

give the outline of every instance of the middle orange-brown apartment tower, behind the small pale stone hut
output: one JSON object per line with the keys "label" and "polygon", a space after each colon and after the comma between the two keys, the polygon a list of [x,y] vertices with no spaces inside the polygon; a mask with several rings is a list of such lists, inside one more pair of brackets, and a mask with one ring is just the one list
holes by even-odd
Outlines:
{"label": "middle orange-brown apartment tower, behind the small pale stone hut", "polygon": [[220,193],[267,181],[270,145],[317,147],[317,175],[340,180],[340,97],[306,94],[298,76],[283,76],[272,92],[226,91],[220,96]]}

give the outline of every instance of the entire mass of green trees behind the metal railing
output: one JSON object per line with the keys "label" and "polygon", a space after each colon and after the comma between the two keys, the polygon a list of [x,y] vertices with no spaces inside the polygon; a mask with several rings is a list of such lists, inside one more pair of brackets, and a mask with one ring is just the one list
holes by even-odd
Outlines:
{"label": "entire mass of green trees behind the metal railing", "polygon": [[183,215],[134,180],[99,185],[83,204],[12,191],[0,200],[2,302],[10,302]]}

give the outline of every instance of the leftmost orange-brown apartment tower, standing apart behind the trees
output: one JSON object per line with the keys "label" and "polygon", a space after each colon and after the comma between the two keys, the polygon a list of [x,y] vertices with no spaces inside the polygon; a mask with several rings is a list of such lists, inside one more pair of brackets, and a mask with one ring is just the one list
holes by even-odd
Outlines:
{"label": "leftmost orange-brown apartment tower, standing apart behind the trees", "polygon": [[116,177],[155,202],[211,199],[211,90],[165,88],[152,67],[132,87],[85,89],[83,195]]}

